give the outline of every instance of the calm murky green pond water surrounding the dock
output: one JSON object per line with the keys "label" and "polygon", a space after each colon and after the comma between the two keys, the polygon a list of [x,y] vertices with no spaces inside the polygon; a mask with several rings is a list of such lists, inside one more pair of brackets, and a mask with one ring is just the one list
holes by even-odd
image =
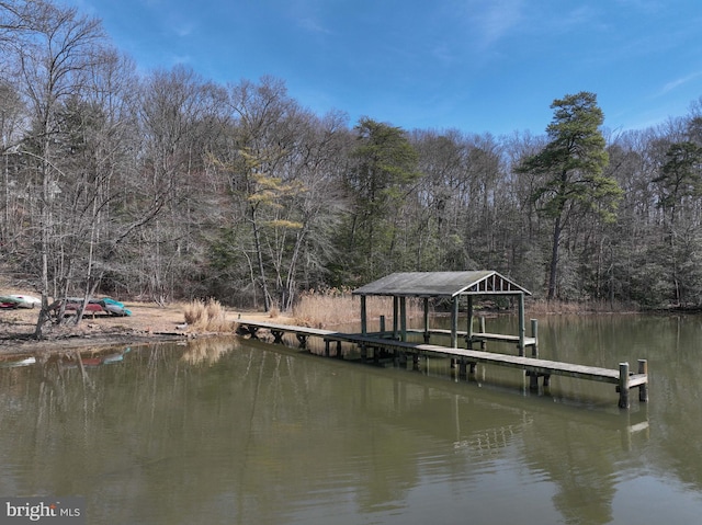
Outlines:
{"label": "calm murky green pond water surrounding the dock", "polygon": [[699,523],[701,336],[699,317],[540,320],[542,357],[648,359],[629,412],[611,385],[231,340],[0,368],[0,495],[84,495],[110,525]]}

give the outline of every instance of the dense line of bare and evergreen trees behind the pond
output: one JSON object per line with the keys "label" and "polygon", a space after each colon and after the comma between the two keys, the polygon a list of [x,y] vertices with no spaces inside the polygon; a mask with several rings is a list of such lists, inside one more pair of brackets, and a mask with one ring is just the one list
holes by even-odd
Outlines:
{"label": "dense line of bare and evergreen trees behind the pond", "polygon": [[588,92],[544,135],[350,124],[281,79],[139,75],[100,20],[44,0],[0,0],[0,270],[42,295],[37,331],[67,296],[288,309],[399,271],[702,305],[702,99],[623,133]]}

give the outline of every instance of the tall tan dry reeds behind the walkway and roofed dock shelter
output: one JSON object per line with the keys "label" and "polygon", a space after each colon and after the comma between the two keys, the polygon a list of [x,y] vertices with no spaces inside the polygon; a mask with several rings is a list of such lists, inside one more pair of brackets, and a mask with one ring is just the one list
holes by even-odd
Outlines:
{"label": "tall tan dry reeds behind the walkway and roofed dock shelter", "polygon": [[[367,297],[365,301],[369,320],[393,315],[392,297]],[[407,301],[407,317],[421,317],[422,306],[418,300]],[[328,328],[361,321],[361,298],[350,292],[332,288],[327,292],[306,292],[293,308],[298,324]]]}

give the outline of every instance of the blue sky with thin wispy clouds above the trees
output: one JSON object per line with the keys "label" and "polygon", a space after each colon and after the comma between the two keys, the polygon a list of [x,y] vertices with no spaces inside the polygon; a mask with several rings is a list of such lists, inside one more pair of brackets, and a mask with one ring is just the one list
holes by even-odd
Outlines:
{"label": "blue sky with thin wispy clouds above the trees", "polygon": [[285,81],[303,106],[405,129],[544,133],[554,99],[598,95],[605,127],[702,96],[700,0],[64,0],[143,72]]}

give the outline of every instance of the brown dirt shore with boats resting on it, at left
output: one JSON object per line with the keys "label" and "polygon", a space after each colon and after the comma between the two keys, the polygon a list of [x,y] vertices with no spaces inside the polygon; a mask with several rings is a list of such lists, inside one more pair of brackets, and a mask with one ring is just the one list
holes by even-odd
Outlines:
{"label": "brown dirt shore with boats resting on it, at left", "polygon": [[[98,313],[87,315],[78,326],[50,327],[46,339],[32,339],[38,309],[0,310],[0,357],[3,355],[91,351],[97,347],[138,344],[160,341],[181,341],[210,335],[184,324],[183,305],[166,307],[156,304],[125,303],[132,311],[128,317]],[[268,319],[254,311],[227,311],[233,323],[238,318]]]}

